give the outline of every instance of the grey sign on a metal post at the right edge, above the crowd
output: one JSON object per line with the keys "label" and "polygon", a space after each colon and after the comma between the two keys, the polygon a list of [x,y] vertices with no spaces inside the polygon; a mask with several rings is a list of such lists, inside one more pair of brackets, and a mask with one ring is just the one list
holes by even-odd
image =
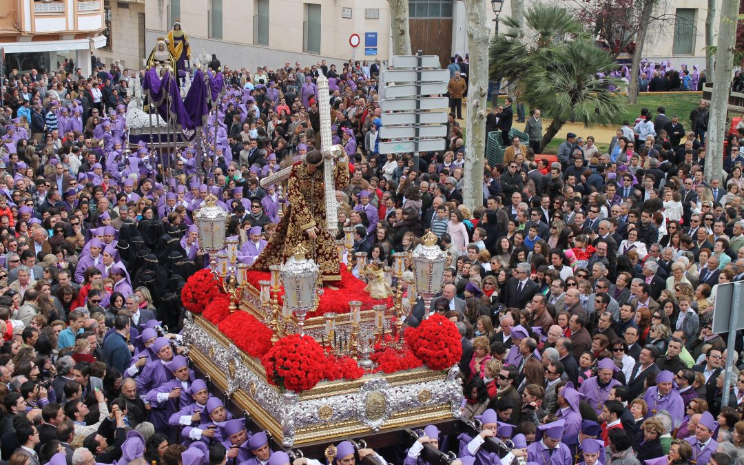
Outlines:
{"label": "grey sign on a metal post at the right edge, above the crowd", "polygon": [[737,330],[744,329],[744,312],[739,307],[744,303],[743,283],[719,284],[716,289],[716,304],[713,308],[713,333],[721,334],[728,331],[728,342],[726,344],[726,365],[723,375],[723,397],[721,405],[728,405],[729,391],[731,388],[731,374],[734,368],[734,347],[737,341]]}

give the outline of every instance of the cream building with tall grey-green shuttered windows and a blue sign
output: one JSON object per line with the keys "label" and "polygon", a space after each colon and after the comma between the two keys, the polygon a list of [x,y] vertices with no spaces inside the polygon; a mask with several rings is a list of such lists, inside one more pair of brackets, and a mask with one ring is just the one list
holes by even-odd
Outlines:
{"label": "cream building with tall grey-green shuttered windows and a blue sign", "polygon": [[[340,65],[352,57],[387,61],[391,48],[387,0],[145,0],[146,55],[176,21],[189,38],[192,60],[217,54],[231,68],[324,59]],[[356,48],[350,45],[354,33]]]}

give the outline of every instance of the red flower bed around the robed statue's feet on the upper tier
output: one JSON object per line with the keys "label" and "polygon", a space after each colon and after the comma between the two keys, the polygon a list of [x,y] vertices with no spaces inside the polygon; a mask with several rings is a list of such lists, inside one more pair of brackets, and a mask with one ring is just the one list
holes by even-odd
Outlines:
{"label": "red flower bed around the robed statue's feet on the upper tier", "polygon": [[[271,273],[269,272],[258,272],[255,270],[248,271],[248,283],[254,286],[256,289],[260,289],[258,281],[269,280]],[[392,306],[392,298],[388,298],[385,301],[379,299],[373,299],[370,295],[365,292],[365,286],[367,286],[362,280],[355,278],[350,272],[347,271],[346,266],[341,265],[341,281],[334,283],[334,286],[339,289],[324,289],[323,295],[321,295],[320,303],[318,304],[318,310],[315,312],[309,312],[307,318],[315,316],[322,316],[324,313],[348,313],[349,301],[362,301],[362,309],[371,309],[373,305],[387,304],[388,307]],[[282,305],[283,291],[279,294],[279,307]]]}

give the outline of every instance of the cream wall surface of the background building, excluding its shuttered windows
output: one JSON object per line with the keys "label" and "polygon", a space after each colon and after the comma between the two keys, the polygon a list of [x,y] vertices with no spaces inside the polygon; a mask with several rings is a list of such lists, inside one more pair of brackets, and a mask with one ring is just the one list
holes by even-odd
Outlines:
{"label": "cream wall surface of the background building, excluding its shuttered windows", "polygon": [[[170,30],[167,24],[169,0],[146,0],[146,45],[149,54],[155,38]],[[321,5],[321,53],[303,52],[304,3]],[[351,19],[341,17],[342,8],[351,8]],[[365,9],[379,10],[379,19],[365,19]],[[208,39],[208,0],[181,0],[181,23],[189,37],[193,56],[217,54],[222,65],[231,68],[257,65],[278,68],[286,61],[312,65],[330,60],[340,65],[354,53],[356,60],[388,60],[390,16],[386,0],[271,0],[269,4],[269,46],[253,45],[253,0],[222,1],[222,39]],[[377,33],[377,54],[365,57],[365,32]],[[362,41],[356,51],[349,36],[357,33]]]}

